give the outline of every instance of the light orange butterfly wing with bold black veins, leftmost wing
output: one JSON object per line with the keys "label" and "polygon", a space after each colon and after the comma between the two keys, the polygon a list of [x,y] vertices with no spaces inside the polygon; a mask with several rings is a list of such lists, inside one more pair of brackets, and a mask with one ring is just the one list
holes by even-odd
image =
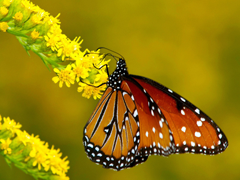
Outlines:
{"label": "light orange butterfly wing with bold black veins, leftmost wing", "polygon": [[84,128],[88,157],[105,168],[120,170],[144,162],[136,157],[140,142],[136,104],[126,83],[122,90],[108,87]]}

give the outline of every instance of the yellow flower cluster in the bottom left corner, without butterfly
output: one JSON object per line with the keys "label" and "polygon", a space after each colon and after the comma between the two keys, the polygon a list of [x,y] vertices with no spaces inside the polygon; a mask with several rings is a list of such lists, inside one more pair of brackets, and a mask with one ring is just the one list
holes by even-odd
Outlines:
{"label": "yellow flower cluster in the bottom left corner, without butterfly", "polygon": [[0,116],[0,154],[6,162],[14,163],[36,179],[69,180],[67,157],[61,159],[59,149],[49,149],[48,143],[20,128],[19,123]]}

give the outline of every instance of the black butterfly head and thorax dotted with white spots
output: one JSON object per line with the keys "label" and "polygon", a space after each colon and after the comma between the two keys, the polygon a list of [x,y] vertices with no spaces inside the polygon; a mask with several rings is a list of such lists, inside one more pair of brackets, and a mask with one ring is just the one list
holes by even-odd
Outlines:
{"label": "black butterfly head and thorax dotted with white spots", "polygon": [[119,90],[122,78],[126,75],[128,75],[126,62],[124,59],[119,59],[115,71],[108,78],[107,86],[112,87],[114,91]]}

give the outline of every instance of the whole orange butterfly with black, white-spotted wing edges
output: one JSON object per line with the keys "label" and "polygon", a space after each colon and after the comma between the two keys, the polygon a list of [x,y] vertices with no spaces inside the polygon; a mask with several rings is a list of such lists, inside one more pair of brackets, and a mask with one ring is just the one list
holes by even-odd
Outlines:
{"label": "whole orange butterfly with black, white-spotted wing edges", "polygon": [[122,170],[150,155],[214,155],[228,141],[217,124],[171,89],[130,75],[119,58],[107,89],[83,130],[87,156],[104,168]]}

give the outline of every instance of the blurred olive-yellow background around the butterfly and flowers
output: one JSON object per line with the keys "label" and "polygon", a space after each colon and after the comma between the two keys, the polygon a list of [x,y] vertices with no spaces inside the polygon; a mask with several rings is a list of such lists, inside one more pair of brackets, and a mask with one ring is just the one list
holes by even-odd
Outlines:
{"label": "blurred olive-yellow background around the butterfly and flowers", "polygon": [[[0,33],[0,114],[28,133],[60,148],[70,161],[70,179],[240,179],[239,0],[33,0],[56,16],[63,33],[81,36],[82,50],[100,46],[121,53],[131,74],[156,80],[186,97],[222,128],[229,148],[217,156],[151,156],[115,172],[92,163],[83,127],[98,101],[77,86],[52,82],[54,73],[31,57],[13,35]],[[115,62],[111,64],[111,72]],[[32,180],[0,157],[1,180]]]}

